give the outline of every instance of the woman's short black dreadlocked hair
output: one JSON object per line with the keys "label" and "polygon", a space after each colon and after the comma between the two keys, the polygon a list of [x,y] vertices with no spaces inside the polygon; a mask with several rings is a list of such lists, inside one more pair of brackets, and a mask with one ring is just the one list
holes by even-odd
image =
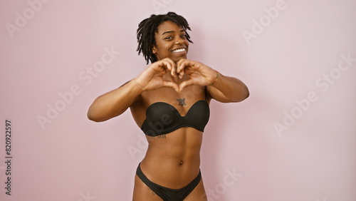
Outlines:
{"label": "woman's short black dreadlocked hair", "polygon": [[[150,18],[141,21],[137,29],[137,51],[139,55],[140,53],[143,54],[145,60],[147,61],[147,64],[149,63],[149,61],[151,61],[151,63],[155,63],[157,61],[155,54],[152,53],[152,45],[157,45],[155,33],[158,32],[158,26],[164,21],[172,21],[174,24],[177,24],[177,26],[182,27],[184,30],[188,29],[189,31],[192,31],[189,27],[187,20],[184,19],[183,16],[179,16],[174,12],[169,12],[163,15],[152,14]],[[190,43],[193,43],[190,40],[190,36],[187,31],[186,34],[187,40]]]}

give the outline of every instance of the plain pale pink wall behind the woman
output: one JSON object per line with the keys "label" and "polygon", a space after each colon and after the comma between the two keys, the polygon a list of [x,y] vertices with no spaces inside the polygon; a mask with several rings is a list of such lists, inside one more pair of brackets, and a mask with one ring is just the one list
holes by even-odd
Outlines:
{"label": "plain pale pink wall behind the woman", "polygon": [[[209,200],[356,200],[356,61],[337,70],[341,55],[356,58],[356,1],[44,2],[1,0],[0,200],[132,200],[147,148],[142,131],[128,110],[104,123],[86,113],[96,97],[146,68],[135,51],[137,25],[167,11],[192,27],[189,59],[240,78],[251,92],[241,103],[211,102],[201,148]],[[271,19],[266,12],[276,4]],[[254,21],[261,19],[263,31]],[[104,48],[120,55],[99,68]],[[100,72],[92,76],[86,68],[94,65]],[[58,93],[75,86],[64,102]],[[48,104],[62,110],[53,119]],[[298,118],[283,123],[286,113]],[[39,115],[51,122],[42,128]],[[6,119],[11,196],[4,188]],[[288,130],[278,135],[276,123]]]}

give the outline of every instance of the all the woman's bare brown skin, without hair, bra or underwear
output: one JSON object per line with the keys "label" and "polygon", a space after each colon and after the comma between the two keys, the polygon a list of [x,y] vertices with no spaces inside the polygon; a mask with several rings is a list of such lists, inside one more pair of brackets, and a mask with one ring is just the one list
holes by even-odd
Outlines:
{"label": "all the woman's bare brown skin, without hair, bra or underwear", "polygon": [[[219,73],[216,81],[216,71],[212,68],[187,60],[189,41],[185,33],[172,21],[160,24],[155,34],[156,45],[152,46],[158,61],[124,86],[98,97],[89,108],[88,118],[108,120],[130,108],[135,122],[141,127],[145,112],[152,103],[169,103],[184,116],[198,100],[210,103],[214,98],[230,103],[247,98],[248,89],[239,79]],[[183,98],[185,105],[179,105],[177,99]],[[149,146],[140,167],[152,182],[179,189],[197,177],[203,138],[201,131],[179,128],[160,138],[146,137]],[[135,175],[133,200],[162,199]],[[207,200],[203,180],[184,200]]]}

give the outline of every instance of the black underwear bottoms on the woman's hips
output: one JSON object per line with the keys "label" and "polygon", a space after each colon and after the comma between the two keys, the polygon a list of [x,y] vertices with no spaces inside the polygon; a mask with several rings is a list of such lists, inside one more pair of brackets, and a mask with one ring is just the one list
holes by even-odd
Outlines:
{"label": "black underwear bottoms on the woman's hips", "polygon": [[199,184],[201,180],[201,172],[199,170],[199,174],[197,177],[192,180],[188,185],[182,187],[180,189],[171,189],[168,187],[163,187],[161,185],[157,185],[154,182],[151,182],[142,172],[140,168],[140,164],[137,167],[136,175],[145,183],[148,187],[150,187],[153,192],[155,192],[159,197],[161,197],[164,201],[182,201],[185,197],[189,195],[190,192],[194,190],[194,188]]}

